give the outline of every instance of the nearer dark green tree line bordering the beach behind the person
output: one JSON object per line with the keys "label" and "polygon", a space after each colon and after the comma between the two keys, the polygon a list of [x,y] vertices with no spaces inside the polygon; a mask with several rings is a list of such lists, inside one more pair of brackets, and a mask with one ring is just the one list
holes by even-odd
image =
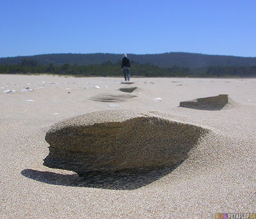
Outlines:
{"label": "nearer dark green tree line bordering the beach behind the person", "polygon": [[[42,64],[35,59],[22,59],[17,64],[0,64],[0,73],[50,73],[56,75],[89,76],[122,76],[121,59],[116,63],[107,61],[101,64],[77,65],[65,63]],[[138,63],[131,60],[132,77],[256,77],[255,66],[207,66],[161,68],[151,63]]]}

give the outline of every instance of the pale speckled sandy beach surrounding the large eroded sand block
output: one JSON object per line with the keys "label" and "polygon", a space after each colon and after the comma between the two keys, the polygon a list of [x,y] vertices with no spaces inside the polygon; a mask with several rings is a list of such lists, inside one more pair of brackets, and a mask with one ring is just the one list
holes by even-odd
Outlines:
{"label": "pale speckled sandy beach surrounding the large eroded sand block", "polygon": [[[134,84],[121,84],[121,77],[0,75],[0,218],[211,218],[216,213],[255,213],[256,79],[131,81]],[[135,97],[124,101],[92,98],[126,94],[119,89],[135,86]],[[229,95],[227,109],[179,107],[180,102],[218,94]],[[45,133],[54,123],[99,110],[137,109],[211,134],[177,167],[127,176],[120,179],[122,185],[115,176],[106,176],[105,183],[104,176],[86,181],[72,171],[43,165],[49,154]]]}

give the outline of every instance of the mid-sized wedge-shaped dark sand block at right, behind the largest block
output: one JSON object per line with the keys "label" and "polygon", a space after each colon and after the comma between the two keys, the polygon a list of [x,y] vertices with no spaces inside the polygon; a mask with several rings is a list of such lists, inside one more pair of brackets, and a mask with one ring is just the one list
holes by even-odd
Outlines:
{"label": "mid-sized wedge-shaped dark sand block at right, behind the largest block", "polygon": [[228,94],[220,94],[218,96],[210,96],[180,102],[180,107],[200,110],[221,110],[229,103]]}

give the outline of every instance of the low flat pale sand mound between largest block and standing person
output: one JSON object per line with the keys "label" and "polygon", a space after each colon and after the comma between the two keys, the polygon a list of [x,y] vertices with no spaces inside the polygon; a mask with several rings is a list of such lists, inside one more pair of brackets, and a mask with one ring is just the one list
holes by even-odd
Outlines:
{"label": "low flat pale sand mound between largest block and standing person", "polygon": [[136,96],[132,94],[97,94],[92,96],[90,100],[99,102],[124,102],[133,97]]}

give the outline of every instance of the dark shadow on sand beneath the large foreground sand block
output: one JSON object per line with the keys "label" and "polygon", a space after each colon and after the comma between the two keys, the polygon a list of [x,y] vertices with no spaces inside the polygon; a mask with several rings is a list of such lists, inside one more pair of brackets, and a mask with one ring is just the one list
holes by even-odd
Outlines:
{"label": "dark shadow on sand beneath the large foreground sand block", "polygon": [[88,188],[103,188],[109,190],[135,190],[160,179],[172,172],[179,164],[173,167],[164,167],[154,170],[120,171],[120,172],[88,172],[80,177],[77,174],[57,174],[39,170],[22,170],[23,176],[35,179],[42,183],[62,186],[76,186]]}

